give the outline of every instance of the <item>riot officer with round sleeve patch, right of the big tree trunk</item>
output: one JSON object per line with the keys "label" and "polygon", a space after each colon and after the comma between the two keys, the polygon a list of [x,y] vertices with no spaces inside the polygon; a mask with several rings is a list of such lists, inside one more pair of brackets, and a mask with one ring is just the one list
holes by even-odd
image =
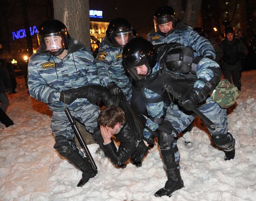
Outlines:
{"label": "riot officer with round sleeve patch, right of the big tree trunk", "polygon": [[112,95],[122,91],[128,101],[131,100],[132,85],[122,64],[122,50],[132,38],[133,28],[126,19],[111,20],[95,59],[101,85],[107,87]]}

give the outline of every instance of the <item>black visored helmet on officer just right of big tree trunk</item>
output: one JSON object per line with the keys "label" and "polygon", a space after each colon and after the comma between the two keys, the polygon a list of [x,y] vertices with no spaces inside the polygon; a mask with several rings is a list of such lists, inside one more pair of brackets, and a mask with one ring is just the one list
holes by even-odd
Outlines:
{"label": "black visored helmet on officer just right of big tree trunk", "polygon": [[124,46],[132,39],[133,28],[126,19],[115,18],[109,23],[106,35],[115,47]]}

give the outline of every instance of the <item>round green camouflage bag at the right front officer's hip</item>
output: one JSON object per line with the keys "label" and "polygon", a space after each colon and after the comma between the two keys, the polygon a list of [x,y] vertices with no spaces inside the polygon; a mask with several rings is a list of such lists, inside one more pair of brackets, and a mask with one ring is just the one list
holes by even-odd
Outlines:
{"label": "round green camouflage bag at the right front officer's hip", "polygon": [[211,94],[211,98],[218,103],[221,108],[228,108],[236,102],[239,96],[237,87],[229,80],[220,80]]}

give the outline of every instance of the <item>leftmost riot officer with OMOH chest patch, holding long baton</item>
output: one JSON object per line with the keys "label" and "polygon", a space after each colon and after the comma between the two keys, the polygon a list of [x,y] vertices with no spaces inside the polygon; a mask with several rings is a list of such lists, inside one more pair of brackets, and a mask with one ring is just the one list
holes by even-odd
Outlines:
{"label": "leftmost riot officer with OMOH chest patch, holding long baton", "polygon": [[75,146],[74,131],[64,107],[69,107],[71,114],[91,133],[97,127],[100,110],[85,98],[66,101],[69,94],[64,94],[63,90],[100,84],[94,57],[80,42],[70,37],[67,27],[59,20],[46,20],[38,30],[40,47],[28,62],[29,94],[52,110],[54,148],[83,172],[77,185],[81,187],[97,172]]}

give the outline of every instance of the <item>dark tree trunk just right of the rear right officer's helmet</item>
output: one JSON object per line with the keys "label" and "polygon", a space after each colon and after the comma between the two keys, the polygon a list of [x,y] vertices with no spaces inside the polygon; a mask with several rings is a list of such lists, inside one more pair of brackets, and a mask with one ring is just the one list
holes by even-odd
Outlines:
{"label": "dark tree trunk just right of the rear right officer's helmet", "polygon": [[184,22],[191,27],[197,26],[202,0],[187,0]]}

